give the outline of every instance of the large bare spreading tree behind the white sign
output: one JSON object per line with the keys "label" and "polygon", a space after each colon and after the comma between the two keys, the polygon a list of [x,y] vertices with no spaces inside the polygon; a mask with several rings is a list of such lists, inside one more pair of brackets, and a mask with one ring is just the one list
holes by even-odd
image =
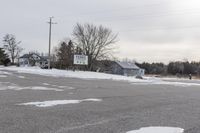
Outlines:
{"label": "large bare spreading tree behind the white sign", "polygon": [[103,26],[93,24],[77,24],[74,27],[73,37],[75,44],[83,50],[83,54],[88,55],[88,69],[92,70],[97,59],[107,57],[112,53],[117,34]]}

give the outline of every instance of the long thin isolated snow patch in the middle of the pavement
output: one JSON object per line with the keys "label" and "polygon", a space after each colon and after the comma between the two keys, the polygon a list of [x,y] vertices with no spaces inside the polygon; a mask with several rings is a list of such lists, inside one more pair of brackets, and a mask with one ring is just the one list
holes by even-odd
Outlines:
{"label": "long thin isolated snow patch in the middle of the pavement", "polygon": [[78,104],[81,102],[101,102],[101,99],[83,99],[83,100],[54,100],[54,101],[44,101],[44,102],[29,102],[21,103],[18,105],[33,105],[36,107],[52,107],[56,105],[65,105],[65,104]]}

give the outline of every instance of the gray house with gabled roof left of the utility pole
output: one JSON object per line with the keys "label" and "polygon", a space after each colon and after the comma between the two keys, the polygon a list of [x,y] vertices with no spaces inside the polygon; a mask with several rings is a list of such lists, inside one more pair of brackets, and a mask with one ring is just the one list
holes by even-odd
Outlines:
{"label": "gray house with gabled roof left of the utility pole", "polygon": [[19,57],[19,66],[39,66],[46,68],[48,66],[48,57],[40,56],[36,53],[24,54]]}

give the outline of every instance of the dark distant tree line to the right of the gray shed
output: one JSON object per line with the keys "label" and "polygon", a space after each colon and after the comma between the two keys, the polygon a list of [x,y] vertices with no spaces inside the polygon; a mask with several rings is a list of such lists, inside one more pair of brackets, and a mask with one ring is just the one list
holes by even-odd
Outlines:
{"label": "dark distant tree line to the right of the gray shed", "polygon": [[200,75],[200,62],[176,61],[165,65],[163,63],[137,63],[145,69],[146,74],[158,75]]}

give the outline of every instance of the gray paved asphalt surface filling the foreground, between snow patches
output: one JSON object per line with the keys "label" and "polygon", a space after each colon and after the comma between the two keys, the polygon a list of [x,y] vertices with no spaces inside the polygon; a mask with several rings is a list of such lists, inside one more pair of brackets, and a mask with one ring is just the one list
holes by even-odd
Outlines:
{"label": "gray paved asphalt surface filling the foreground, between snow patches", "polygon": [[[64,91],[5,90],[10,85],[62,86]],[[0,90],[0,133],[126,133],[148,126],[180,127],[185,133],[200,133],[199,86],[136,85],[12,72],[0,76],[0,88],[4,88]],[[87,98],[102,101],[46,108],[17,105]]]}

